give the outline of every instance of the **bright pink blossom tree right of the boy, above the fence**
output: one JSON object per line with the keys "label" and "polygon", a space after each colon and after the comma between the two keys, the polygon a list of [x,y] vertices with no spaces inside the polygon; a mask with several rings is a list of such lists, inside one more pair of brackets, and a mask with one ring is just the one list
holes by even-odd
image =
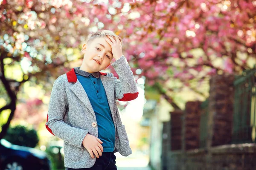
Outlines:
{"label": "bright pink blossom tree right of the boy, above the fence", "polygon": [[200,84],[210,76],[256,63],[255,0],[137,0],[127,16],[133,20],[119,22],[127,56],[170,103],[166,91],[173,89],[163,89],[170,80],[202,94]]}

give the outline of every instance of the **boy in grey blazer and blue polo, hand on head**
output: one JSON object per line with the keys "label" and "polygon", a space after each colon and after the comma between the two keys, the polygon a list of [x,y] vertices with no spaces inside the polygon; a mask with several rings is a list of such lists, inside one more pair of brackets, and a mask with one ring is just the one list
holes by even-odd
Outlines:
{"label": "boy in grey blazer and blue polo, hand on head", "polygon": [[[116,99],[136,99],[138,90],[121,41],[108,30],[92,34],[82,47],[81,67],[53,84],[46,127],[64,141],[66,170],[116,170],[114,153],[132,153]],[[113,58],[119,79],[99,72]]]}

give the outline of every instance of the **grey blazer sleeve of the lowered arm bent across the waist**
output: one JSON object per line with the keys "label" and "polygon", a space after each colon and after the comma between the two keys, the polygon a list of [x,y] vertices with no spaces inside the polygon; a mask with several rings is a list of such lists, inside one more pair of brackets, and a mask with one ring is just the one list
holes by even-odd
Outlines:
{"label": "grey blazer sleeve of the lowered arm bent across the waist", "polygon": [[82,147],[82,141],[87,135],[88,130],[72,127],[64,122],[64,114],[66,113],[68,102],[63,84],[60,77],[53,84],[46,128],[54,136],[65,142],[76,147]]}

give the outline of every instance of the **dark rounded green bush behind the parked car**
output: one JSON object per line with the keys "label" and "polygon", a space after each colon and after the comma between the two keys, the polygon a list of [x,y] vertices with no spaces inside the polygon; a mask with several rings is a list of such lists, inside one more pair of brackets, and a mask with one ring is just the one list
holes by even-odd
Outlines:
{"label": "dark rounded green bush behind the parked car", "polygon": [[35,147],[39,142],[36,130],[28,129],[22,125],[9,127],[4,139],[12,144],[26,147]]}

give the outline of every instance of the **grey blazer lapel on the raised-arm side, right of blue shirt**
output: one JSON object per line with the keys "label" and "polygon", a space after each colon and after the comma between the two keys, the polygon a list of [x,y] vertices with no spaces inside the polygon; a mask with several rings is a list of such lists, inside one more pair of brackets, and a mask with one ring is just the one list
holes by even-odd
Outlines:
{"label": "grey blazer lapel on the raised-arm side, right of blue shirt", "polygon": [[114,115],[114,99],[115,99],[115,79],[112,77],[105,77],[100,75],[102,80],[102,84],[104,86],[105,92],[108,98],[108,105],[110,107],[110,111],[112,116]]}

